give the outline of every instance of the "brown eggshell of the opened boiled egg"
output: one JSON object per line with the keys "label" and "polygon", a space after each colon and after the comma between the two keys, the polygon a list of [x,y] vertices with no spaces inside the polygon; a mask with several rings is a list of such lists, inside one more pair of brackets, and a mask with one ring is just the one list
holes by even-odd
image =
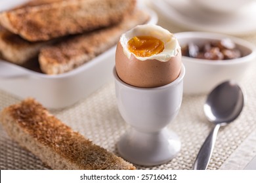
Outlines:
{"label": "brown eggshell of the opened boiled egg", "polygon": [[[149,29],[148,27],[146,28]],[[142,33],[139,34],[142,35]],[[154,35],[156,35],[156,33],[154,33]],[[130,37],[134,36],[137,35],[132,33]],[[173,37],[172,34],[171,36]],[[159,37],[158,39],[166,43],[166,41],[164,41],[163,39]],[[125,40],[129,41],[129,37],[126,37]],[[162,58],[165,57],[165,61],[160,61],[159,59],[156,59],[156,56],[153,56],[153,59],[150,59],[151,57],[148,57],[144,60],[141,60],[137,58],[134,54],[130,54],[129,58],[127,54],[125,54],[125,52],[127,52],[127,49],[123,48],[120,39],[120,41],[117,43],[116,49],[117,75],[121,80],[123,80],[123,82],[139,88],[156,88],[169,84],[173,82],[173,80],[175,80],[181,72],[181,48],[179,47],[179,45],[175,45],[173,48],[177,49],[177,52],[174,56],[169,57],[167,60],[166,55],[162,54]]]}

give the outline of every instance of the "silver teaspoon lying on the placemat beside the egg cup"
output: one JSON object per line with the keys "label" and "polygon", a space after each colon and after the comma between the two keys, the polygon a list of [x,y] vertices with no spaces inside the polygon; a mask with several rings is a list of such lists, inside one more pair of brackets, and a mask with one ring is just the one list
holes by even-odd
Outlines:
{"label": "silver teaspoon lying on the placemat beside the egg cup", "polygon": [[213,122],[215,127],[203,142],[193,166],[194,170],[207,169],[219,128],[233,122],[243,107],[244,94],[235,82],[223,82],[209,93],[203,110],[207,120]]}

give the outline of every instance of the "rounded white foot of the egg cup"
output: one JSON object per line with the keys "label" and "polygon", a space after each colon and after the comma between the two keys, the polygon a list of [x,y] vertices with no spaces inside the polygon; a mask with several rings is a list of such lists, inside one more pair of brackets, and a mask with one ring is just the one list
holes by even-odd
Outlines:
{"label": "rounded white foot of the egg cup", "polygon": [[121,157],[131,163],[155,166],[175,158],[181,150],[181,141],[176,133],[167,128],[158,133],[143,133],[131,129],[121,137],[117,150]]}

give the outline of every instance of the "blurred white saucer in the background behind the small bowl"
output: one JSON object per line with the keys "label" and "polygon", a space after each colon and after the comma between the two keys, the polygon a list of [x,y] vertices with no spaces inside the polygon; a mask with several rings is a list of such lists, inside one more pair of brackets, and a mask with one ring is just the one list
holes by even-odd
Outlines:
{"label": "blurred white saucer in the background behind the small bowl", "polygon": [[256,1],[235,14],[224,15],[200,10],[192,1],[162,0],[151,3],[172,22],[194,31],[242,35],[256,31]]}

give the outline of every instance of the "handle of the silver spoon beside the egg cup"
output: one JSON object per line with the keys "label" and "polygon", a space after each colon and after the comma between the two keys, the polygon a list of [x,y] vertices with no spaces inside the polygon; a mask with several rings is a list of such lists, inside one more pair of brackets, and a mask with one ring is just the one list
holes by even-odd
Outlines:
{"label": "handle of the silver spoon beside the egg cup", "polygon": [[217,138],[217,134],[219,131],[219,127],[221,125],[217,124],[209,133],[208,137],[203,142],[203,145],[196,157],[196,161],[194,163],[194,170],[206,170],[211,159],[211,154],[213,153],[213,147]]}

